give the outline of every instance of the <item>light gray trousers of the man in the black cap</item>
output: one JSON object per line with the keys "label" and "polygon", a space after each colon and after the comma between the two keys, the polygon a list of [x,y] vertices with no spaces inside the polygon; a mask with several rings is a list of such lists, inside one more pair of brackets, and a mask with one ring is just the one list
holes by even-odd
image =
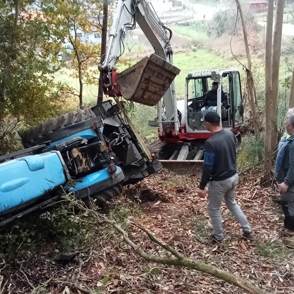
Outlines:
{"label": "light gray trousers of the man in the black cap", "polygon": [[245,214],[236,203],[235,188],[238,184],[238,179],[238,174],[235,174],[233,177],[223,181],[209,182],[207,211],[211,218],[214,236],[218,240],[224,238],[220,212],[223,199],[227,208],[240,222],[243,232],[250,233],[252,231]]}

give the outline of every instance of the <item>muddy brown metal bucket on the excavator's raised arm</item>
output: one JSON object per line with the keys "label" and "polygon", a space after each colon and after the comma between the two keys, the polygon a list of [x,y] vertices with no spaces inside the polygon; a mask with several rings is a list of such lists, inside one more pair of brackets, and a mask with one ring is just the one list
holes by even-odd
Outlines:
{"label": "muddy brown metal bucket on the excavator's raised arm", "polygon": [[154,106],[180,70],[155,54],[117,74],[121,95],[132,102]]}

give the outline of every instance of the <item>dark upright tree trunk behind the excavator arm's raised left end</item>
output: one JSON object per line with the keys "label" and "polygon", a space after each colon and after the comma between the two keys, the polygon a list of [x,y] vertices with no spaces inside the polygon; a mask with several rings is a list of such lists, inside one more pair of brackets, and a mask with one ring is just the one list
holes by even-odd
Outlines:
{"label": "dark upright tree trunk behind the excavator arm's raised left end", "polygon": [[[101,40],[101,63],[104,61],[106,54],[106,42],[107,42],[107,20],[108,20],[108,1],[103,1],[103,21],[102,21],[102,40]],[[99,87],[97,104],[103,100],[103,89],[102,89],[102,73],[99,75]]]}

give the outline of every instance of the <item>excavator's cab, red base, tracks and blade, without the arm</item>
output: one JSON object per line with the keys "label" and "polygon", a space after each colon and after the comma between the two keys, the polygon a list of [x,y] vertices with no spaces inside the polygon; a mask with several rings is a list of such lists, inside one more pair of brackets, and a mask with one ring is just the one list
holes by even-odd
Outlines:
{"label": "excavator's cab, red base, tracks and blade, without the arm", "polygon": [[[207,103],[213,95],[207,94],[212,84],[218,85],[216,104]],[[205,101],[206,100],[206,101]],[[207,109],[209,105],[211,108]],[[204,111],[205,110],[205,111]],[[233,68],[203,70],[188,73],[186,76],[185,99],[177,100],[180,117],[180,129],[177,134],[160,133],[161,143],[155,143],[152,149],[157,152],[165,168],[179,174],[198,173],[203,165],[204,142],[211,133],[204,126],[204,115],[208,111],[217,111],[223,128],[231,130],[236,136],[236,148],[240,147],[240,130],[243,126],[240,74]],[[162,111],[165,114],[165,109]],[[162,117],[149,121],[149,125],[159,127]]]}

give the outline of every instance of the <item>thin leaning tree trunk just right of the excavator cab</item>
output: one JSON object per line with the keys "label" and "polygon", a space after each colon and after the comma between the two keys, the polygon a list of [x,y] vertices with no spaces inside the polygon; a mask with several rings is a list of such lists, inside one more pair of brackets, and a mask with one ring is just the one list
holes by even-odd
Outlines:
{"label": "thin leaning tree trunk just right of the excavator cab", "polygon": [[[257,114],[256,114],[256,97],[255,97],[255,91],[254,91],[254,83],[253,83],[253,78],[252,78],[252,73],[251,73],[251,56],[250,56],[250,51],[249,51],[249,45],[248,45],[248,38],[247,38],[247,31],[246,31],[246,25],[245,25],[245,19],[243,16],[243,11],[242,11],[242,6],[240,4],[239,0],[235,0],[237,7],[239,8],[239,13],[240,13],[240,18],[242,22],[242,28],[243,28],[243,35],[244,35],[244,44],[245,44],[245,50],[246,50],[246,55],[247,55],[247,62],[248,62],[248,70],[246,70],[246,85],[248,88],[248,95],[249,95],[249,106],[253,118],[253,128],[254,128],[254,135],[256,141],[259,140],[259,128],[258,128],[258,122],[257,122]],[[261,161],[262,159],[262,153],[259,151],[258,152],[258,161]]]}

